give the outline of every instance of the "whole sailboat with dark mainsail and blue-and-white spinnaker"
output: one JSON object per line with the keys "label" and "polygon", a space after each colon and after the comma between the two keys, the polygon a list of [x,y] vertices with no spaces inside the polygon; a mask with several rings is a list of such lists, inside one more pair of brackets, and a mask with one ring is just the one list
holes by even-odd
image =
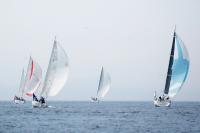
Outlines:
{"label": "whole sailboat with dark mainsail and blue-and-white spinnaker", "polygon": [[188,51],[176,30],[174,30],[165,89],[163,95],[158,98],[156,92],[154,93],[154,105],[156,107],[171,105],[171,99],[178,94],[187,78],[189,64]]}

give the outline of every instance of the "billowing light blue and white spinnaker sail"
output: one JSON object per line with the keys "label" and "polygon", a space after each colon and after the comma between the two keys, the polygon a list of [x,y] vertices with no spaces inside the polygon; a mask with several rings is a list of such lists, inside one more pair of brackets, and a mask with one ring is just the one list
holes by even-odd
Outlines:
{"label": "billowing light blue and white spinnaker sail", "polygon": [[169,97],[174,97],[180,91],[189,71],[189,63],[188,51],[181,39],[176,35]]}

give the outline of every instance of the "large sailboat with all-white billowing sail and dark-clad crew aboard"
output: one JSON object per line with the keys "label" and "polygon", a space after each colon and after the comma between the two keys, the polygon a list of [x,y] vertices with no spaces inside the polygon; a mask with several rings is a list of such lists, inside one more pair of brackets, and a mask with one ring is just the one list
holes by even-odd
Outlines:
{"label": "large sailboat with all-white billowing sail and dark-clad crew aboard", "polygon": [[64,87],[69,72],[69,61],[65,50],[61,45],[54,40],[53,49],[46,73],[46,77],[41,87],[40,100],[33,95],[32,106],[33,107],[48,107],[45,102],[49,96],[56,96]]}

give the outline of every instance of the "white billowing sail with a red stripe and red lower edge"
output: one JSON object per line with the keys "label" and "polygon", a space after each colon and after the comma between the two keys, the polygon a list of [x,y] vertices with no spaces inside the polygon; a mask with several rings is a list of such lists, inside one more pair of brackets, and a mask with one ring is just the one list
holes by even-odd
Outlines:
{"label": "white billowing sail with a red stripe and red lower edge", "polygon": [[40,65],[30,57],[25,78],[26,95],[32,96],[32,94],[39,88],[41,80],[42,69]]}

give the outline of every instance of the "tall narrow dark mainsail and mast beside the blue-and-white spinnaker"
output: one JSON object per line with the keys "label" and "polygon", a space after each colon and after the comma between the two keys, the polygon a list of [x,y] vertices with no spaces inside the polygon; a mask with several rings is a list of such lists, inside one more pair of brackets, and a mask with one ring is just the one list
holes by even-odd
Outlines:
{"label": "tall narrow dark mainsail and mast beside the blue-and-white spinnaker", "polygon": [[173,37],[173,42],[172,42],[172,48],[171,48],[171,54],[170,54],[170,60],[169,60],[164,94],[169,93],[169,87],[170,87],[170,82],[171,82],[171,77],[172,77],[172,66],[173,66],[173,62],[174,62],[174,51],[175,51],[175,41],[176,41],[175,39],[176,39],[176,27],[174,30],[174,37]]}

